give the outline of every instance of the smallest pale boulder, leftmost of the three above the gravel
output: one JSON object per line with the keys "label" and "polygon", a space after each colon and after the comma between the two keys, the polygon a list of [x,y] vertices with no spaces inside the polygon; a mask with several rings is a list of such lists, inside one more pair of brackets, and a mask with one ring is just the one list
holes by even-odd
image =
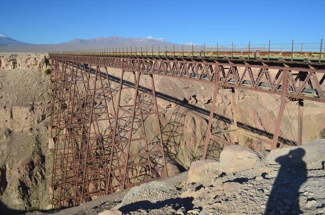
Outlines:
{"label": "smallest pale boulder, leftmost of the three above the gravel", "polygon": [[188,183],[197,183],[201,180],[205,171],[219,170],[220,162],[217,159],[206,159],[200,161],[194,161],[191,163],[188,170]]}

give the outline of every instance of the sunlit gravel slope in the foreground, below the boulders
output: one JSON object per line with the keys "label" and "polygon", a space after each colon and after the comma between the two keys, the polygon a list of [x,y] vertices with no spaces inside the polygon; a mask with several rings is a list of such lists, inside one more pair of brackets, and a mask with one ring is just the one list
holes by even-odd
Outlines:
{"label": "sunlit gravel slope in the foreground, below the boulders", "polygon": [[261,162],[231,174],[207,171],[199,183],[191,184],[186,176],[181,173],[174,181],[148,183],[54,214],[99,214],[108,209],[123,214],[325,213],[325,170],[319,166]]}

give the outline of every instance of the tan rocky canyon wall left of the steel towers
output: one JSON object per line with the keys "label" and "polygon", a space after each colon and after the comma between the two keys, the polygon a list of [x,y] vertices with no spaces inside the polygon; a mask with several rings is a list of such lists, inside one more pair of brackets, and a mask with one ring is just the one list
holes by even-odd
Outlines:
{"label": "tan rocky canyon wall left of the steel towers", "polygon": [[44,55],[0,55],[0,210],[51,204],[49,78]]}

